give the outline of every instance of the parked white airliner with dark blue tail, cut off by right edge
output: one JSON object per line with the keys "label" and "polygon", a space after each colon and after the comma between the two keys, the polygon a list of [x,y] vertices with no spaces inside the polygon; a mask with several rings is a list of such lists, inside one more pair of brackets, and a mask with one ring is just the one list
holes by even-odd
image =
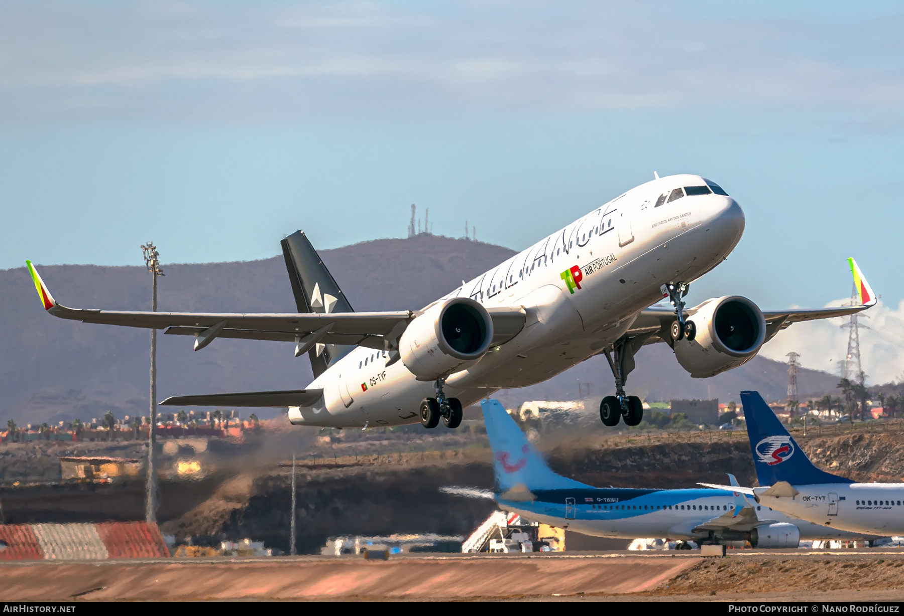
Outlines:
{"label": "parked white airliner with dark blue tail, cut off by right edge", "polygon": [[757,392],[742,391],[740,397],[761,487],[739,490],[824,527],[904,535],[904,485],[857,483],[817,469]]}

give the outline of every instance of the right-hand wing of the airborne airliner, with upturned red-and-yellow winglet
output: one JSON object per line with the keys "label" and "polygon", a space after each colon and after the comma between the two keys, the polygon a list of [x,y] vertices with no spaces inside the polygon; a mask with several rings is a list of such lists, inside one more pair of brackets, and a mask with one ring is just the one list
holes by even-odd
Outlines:
{"label": "right-hand wing of the airborne airliner, with upturned red-and-yellow winglet", "polygon": [[[816,319],[832,319],[839,316],[850,316],[860,313],[875,305],[877,296],[872,292],[870,283],[866,281],[853,258],[848,259],[851,267],[854,286],[860,298],[860,304],[853,306],[838,306],[835,308],[813,309],[788,309],[788,310],[764,310],[763,318],[766,320],[766,341],[770,341],[779,331],[789,327],[792,323],[815,321]],[[684,313],[691,317],[694,310],[687,309]],[[652,344],[669,340],[669,328],[675,320],[673,308],[669,306],[651,306],[641,312],[631,328],[627,331],[627,337],[647,336],[644,344]]]}

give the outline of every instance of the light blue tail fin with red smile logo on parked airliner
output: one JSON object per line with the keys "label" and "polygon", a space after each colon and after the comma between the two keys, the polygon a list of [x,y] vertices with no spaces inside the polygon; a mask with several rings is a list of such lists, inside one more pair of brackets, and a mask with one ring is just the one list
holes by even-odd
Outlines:
{"label": "light blue tail fin with red smile logo on parked airliner", "polygon": [[493,451],[493,468],[501,492],[521,487],[527,490],[592,488],[554,473],[498,400],[484,400],[480,407],[484,411],[486,436]]}

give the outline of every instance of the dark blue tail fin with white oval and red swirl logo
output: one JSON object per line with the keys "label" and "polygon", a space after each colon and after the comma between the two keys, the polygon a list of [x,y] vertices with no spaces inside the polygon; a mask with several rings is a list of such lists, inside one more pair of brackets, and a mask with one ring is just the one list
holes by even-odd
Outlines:
{"label": "dark blue tail fin with white oval and red swirl logo", "polygon": [[777,481],[791,485],[853,483],[817,469],[758,392],[742,391],[740,399],[759,485],[771,486]]}

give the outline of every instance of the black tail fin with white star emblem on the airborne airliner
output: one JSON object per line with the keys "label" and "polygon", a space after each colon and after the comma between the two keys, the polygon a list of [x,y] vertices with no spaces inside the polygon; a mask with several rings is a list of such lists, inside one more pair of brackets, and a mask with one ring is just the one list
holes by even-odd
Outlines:
{"label": "black tail fin with white star emblem on the airborne airliner", "polygon": [[[352,304],[336,284],[333,275],[326,269],[304,231],[296,231],[284,238],[280,244],[299,313],[354,312]],[[319,377],[325,369],[353,349],[353,346],[348,345],[316,344],[307,352],[314,376]]]}

